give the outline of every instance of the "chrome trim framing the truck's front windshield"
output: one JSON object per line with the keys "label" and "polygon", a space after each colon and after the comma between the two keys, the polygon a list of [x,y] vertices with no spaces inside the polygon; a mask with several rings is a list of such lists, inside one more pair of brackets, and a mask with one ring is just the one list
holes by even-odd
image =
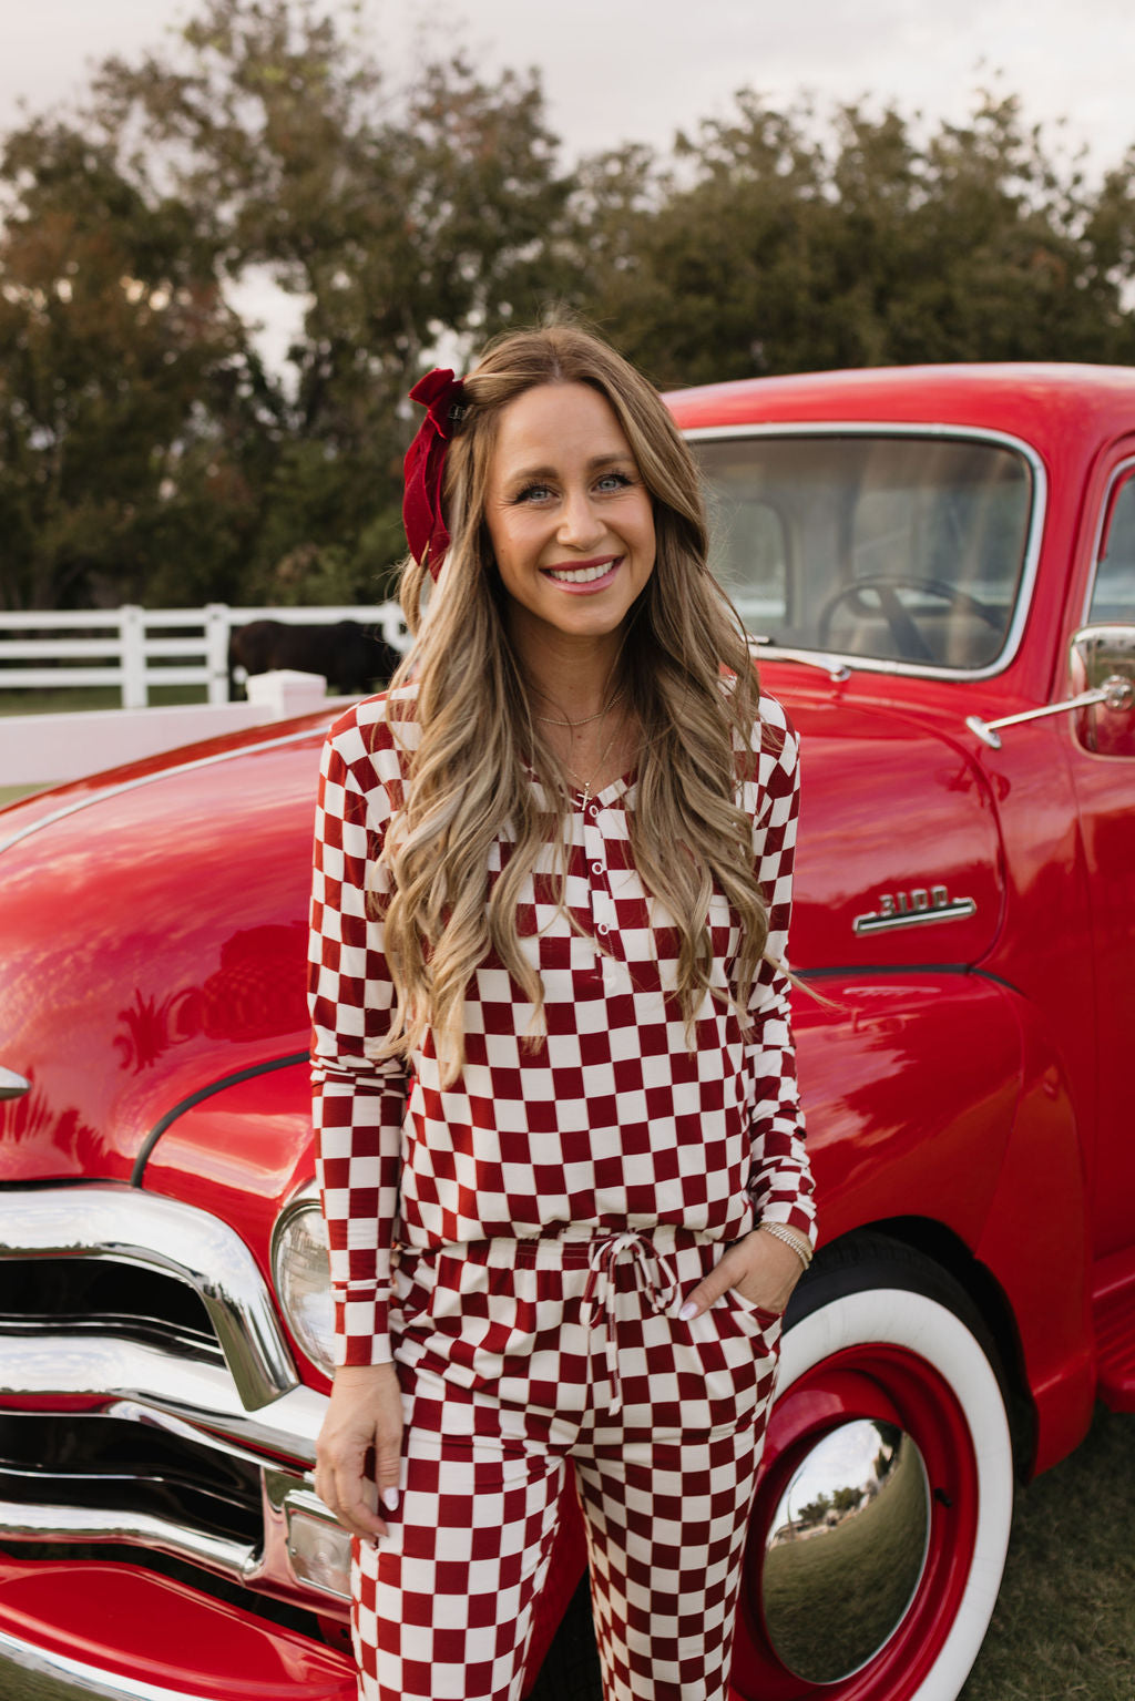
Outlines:
{"label": "chrome trim framing the truck's front windshield", "polygon": [[[1024,636],[1024,623],[1033,602],[1036,570],[1040,565],[1040,544],[1045,532],[1045,515],[1048,512],[1048,475],[1036,449],[1014,437],[1011,432],[984,429],[977,425],[917,424],[914,420],[767,420],[750,425],[691,425],[679,427],[687,442],[728,442],[742,437],[934,437],[951,442],[990,444],[999,449],[1016,451],[1033,475],[1033,502],[1029,507],[1029,524],[1024,539],[1024,563],[1021,568],[1021,587],[1016,609],[1001,653],[985,667],[936,667],[926,662],[888,662],[876,657],[846,655],[839,650],[824,651],[827,657],[846,663],[853,674],[895,674],[909,679],[956,679],[982,680],[1002,674],[1016,660]],[[795,645],[793,648],[803,648]],[[769,645],[767,660],[776,660],[776,645]],[[818,651],[817,651],[818,653]],[[2,849],[2,847],[0,847]]]}

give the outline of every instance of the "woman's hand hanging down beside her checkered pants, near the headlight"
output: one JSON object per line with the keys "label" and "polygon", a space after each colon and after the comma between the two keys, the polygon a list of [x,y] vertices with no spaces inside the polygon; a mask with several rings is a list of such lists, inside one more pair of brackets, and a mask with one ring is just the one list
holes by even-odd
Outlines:
{"label": "woman's hand hanging down beside her checkered pants, near the headlight", "polygon": [[335,1371],[332,1398],[315,1444],[315,1492],[339,1522],[373,1541],[386,1534],[374,1507],[374,1483],[366,1456],[374,1449],[378,1500],[398,1505],[402,1465],[402,1390],[393,1364],[344,1364]]}

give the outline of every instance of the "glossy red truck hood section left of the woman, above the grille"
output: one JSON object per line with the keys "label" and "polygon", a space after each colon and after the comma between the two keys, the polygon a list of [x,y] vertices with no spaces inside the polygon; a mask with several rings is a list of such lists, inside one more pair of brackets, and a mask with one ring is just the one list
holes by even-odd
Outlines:
{"label": "glossy red truck hood section left of the woman, above the grille", "polygon": [[301,1056],[327,716],[0,813],[0,1180],[126,1179],[201,1089]]}

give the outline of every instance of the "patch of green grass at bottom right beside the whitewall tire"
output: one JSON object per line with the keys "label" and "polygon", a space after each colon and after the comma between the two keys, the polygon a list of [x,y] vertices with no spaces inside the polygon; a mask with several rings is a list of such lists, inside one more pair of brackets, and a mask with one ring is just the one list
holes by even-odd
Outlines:
{"label": "patch of green grass at bottom right beside the whitewall tire", "polygon": [[1135,1417],[1018,1493],[1001,1599],[963,1701],[1135,1701]]}

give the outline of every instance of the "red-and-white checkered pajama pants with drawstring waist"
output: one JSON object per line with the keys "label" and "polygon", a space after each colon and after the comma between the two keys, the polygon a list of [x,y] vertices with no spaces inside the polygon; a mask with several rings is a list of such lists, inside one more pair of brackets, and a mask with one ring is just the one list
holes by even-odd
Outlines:
{"label": "red-and-white checkered pajama pants with drawstring waist", "polygon": [[[779,1318],[681,1230],[402,1260],[407,1417],[390,1534],[356,1543],[361,1701],[517,1701],[573,1471],[606,1701],[725,1701]],[[529,1674],[534,1675],[534,1674]]]}

